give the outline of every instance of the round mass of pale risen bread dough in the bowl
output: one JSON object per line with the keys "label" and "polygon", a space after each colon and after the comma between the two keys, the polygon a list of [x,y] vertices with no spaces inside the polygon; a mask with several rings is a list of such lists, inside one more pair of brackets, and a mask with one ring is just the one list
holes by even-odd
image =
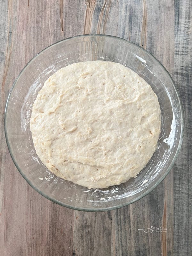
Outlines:
{"label": "round mass of pale risen bread dough in the bowl", "polygon": [[36,153],[57,176],[88,188],[135,177],[156,150],[156,94],[131,69],[79,62],[50,76],[33,104]]}

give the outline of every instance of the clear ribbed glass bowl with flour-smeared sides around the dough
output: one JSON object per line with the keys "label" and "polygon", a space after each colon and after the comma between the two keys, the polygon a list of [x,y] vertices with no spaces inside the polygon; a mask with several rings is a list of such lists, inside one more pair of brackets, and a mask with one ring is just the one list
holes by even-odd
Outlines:
{"label": "clear ribbed glass bowl with flour-smeared sides around the dough", "polygon": [[[131,68],[151,85],[161,107],[161,134],[151,160],[136,178],[105,189],[88,189],[51,173],[36,155],[30,132],[32,105],[47,78],[62,67],[87,60],[119,62]],[[7,145],[24,179],[53,202],[83,211],[112,210],[147,195],[171,170],[183,128],[179,93],[167,70],[140,46],[107,35],[71,37],[37,54],[17,77],[5,110]]]}

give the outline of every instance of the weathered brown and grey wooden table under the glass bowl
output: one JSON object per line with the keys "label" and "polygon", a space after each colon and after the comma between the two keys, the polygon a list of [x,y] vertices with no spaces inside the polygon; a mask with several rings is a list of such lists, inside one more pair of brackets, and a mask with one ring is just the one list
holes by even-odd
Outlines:
{"label": "weathered brown and grey wooden table under the glass bowl", "polygon": [[[0,256],[192,255],[191,13],[191,0],[0,0]],[[6,100],[22,68],[50,44],[90,33],[151,52],[172,75],[185,112],[172,171],[148,196],[109,212],[70,210],[38,194],[4,136]],[[154,232],[138,230],[151,226]]]}

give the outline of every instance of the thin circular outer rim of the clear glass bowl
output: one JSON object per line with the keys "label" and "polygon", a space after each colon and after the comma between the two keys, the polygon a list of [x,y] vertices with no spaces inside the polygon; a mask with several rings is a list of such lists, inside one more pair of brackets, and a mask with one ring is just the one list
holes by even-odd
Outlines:
{"label": "thin circular outer rim of the clear glass bowl", "polygon": [[[39,56],[41,53],[43,53],[44,51],[46,51],[48,48],[51,48],[53,47],[54,45],[57,45],[57,44],[60,44],[61,42],[63,41],[68,41],[72,38],[80,38],[80,37],[88,37],[88,36],[100,36],[100,37],[109,37],[109,38],[114,38],[114,39],[117,39],[117,40],[120,40],[120,41],[123,41],[123,42],[126,42],[128,44],[132,44],[136,47],[138,47],[140,50],[144,51],[145,53],[147,53],[151,58],[153,58],[154,60],[157,61],[157,63],[164,69],[165,73],[167,73],[167,75],[169,76],[169,78],[171,79],[172,81],[172,84],[173,84],[173,88],[176,92],[176,95],[177,95],[177,98],[178,98],[178,105],[179,105],[179,110],[180,110],[180,115],[181,115],[181,131],[180,131],[180,137],[179,137],[179,143],[178,143],[178,147],[176,149],[176,152],[175,152],[175,155],[171,161],[171,163],[169,164],[169,166],[167,167],[167,170],[166,172],[164,173],[164,175],[150,188],[148,188],[146,191],[144,191],[142,194],[138,195],[136,198],[130,200],[129,202],[125,202],[123,204],[118,204],[118,205],[115,205],[115,206],[109,206],[109,207],[104,207],[104,208],[86,208],[86,207],[76,207],[76,206],[73,206],[73,205],[70,205],[70,204],[67,204],[67,203],[63,203],[55,198],[53,198],[52,196],[48,196],[47,194],[45,194],[44,192],[42,192],[40,189],[38,189],[25,175],[25,173],[20,169],[19,165],[17,164],[17,161],[16,159],[13,157],[13,151],[12,151],[12,148],[11,148],[11,142],[9,140],[9,136],[8,136],[8,126],[7,126],[7,109],[8,109],[8,106],[9,106],[9,103],[10,103],[10,100],[11,100],[11,96],[12,96],[12,91],[15,87],[15,85],[17,84],[17,81],[19,80],[20,76],[23,74],[23,72],[25,71],[25,69],[30,65],[31,62],[33,62],[37,56]],[[7,102],[6,102],[6,106],[5,106],[5,115],[4,115],[4,130],[5,130],[5,138],[6,138],[6,143],[7,143],[7,146],[8,146],[8,149],[9,149],[9,152],[10,152],[10,155],[12,157],[12,160],[13,160],[13,163],[15,164],[16,168],[18,169],[18,171],[20,172],[20,174],[23,176],[23,178],[28,182],[28,184],[34,188],[39,194],[41,194],[42,196],[44,196],[45,198],[51,200],[52,202],[56,203],[56,204],[59,204],[61,206],[65,206],[67,208],[70,208],[70,209],[73,209],[73,210],[79,210],[79,211],[86,211],[86,212],[102,212],[102,211],[109,211],[109,210],[114,210],[114,209],[118,209],[118,208],[121,208],[123,206],[126,206],[126,205],[129,205],[129,204],[132,204],[136,201],[138,201],[139,199],[141,199],[142,197],[146,196],[147,194],[149,194],[153,189],[155,189],[160,183],[162,180],[164,180],[164,178],[167,176],[167,174],[170,172],[170,170],[172,169],[173,167],[173,164],[175,163],[175,160],[180,152],[180,148],[181,148],[181,145],[182,145],[182,140],[183,140],[183,135],[184,135],[184,110],[183,110],[183,105],[182,105],[182,102],[181,102],[181,99],[180,99],[180,95],[179,95],[179,91],[172,79],[172,76],[169,74],[169,72],[167,71],[167,69],[161,64],[161,62],[159,60],[157,60],[150,52],[148,52],[147,50],[145,50],[144,48],[142,48],[140,45],[138,44],[135,44],[133,42],[130,42],[124,38],[121,38],[121,37],[117,37],[117,36],[111,36],[111,35],[105,35],[105,34],[86,34],[86,35],[78,35],[78,36],[72,36],[72,37],[68,37],[68,38],[65,38],[63,40],[60,40],[54,44],[51,44],[49,46],[47,46],[46,48],[44,48],[41,52],[37,53],[28,63],[27,65],[21,70],[20,74],[17,76],[15,82],[13,83],[12,85],[12,88],[9,92],[9,95],[8,95],[8,98],[7,98]]]}

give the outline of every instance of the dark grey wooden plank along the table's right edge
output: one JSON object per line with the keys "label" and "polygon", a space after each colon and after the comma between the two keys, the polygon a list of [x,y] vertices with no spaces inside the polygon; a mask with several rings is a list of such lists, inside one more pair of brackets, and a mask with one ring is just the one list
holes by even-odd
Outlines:
{"label": "dark grey wooden plank along the table's right edge", "polygon": [[185,133],[174,165],[174,252],[192,254],[192,2],[175,1],[175,83],[185,115]]}

